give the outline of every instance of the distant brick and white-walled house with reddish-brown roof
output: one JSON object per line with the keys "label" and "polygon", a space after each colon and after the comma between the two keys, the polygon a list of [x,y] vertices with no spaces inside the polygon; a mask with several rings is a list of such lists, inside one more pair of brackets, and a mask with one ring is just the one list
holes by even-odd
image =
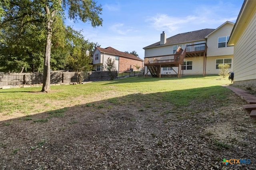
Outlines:
{"label": "distant brick and white-walled house with reddish-brown roof", "polygon": [[112,47],[107,47],[105,49],[96,47],[93,52],[93,67],[95,70],[102,71],[108,57],[115,60],[118,72],[127,70],[137,71],[135,66],[140,66],[140,69],[143,68],[143,60],[135,55],[118,51]]}

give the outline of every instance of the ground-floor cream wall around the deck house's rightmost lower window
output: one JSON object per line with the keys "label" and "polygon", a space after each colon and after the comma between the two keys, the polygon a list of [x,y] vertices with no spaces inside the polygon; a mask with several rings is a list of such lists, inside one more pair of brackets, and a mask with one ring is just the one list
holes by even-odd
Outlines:
{"label": "ground-floor cream wall around the deck house's rightmost lower window", "polygon": [[216,59],[229,59],[232,58],[231,68],[229,71],[233,71],[233,55],[219,56],[219,57],[207,57],[206,58],[206,74],[218,74],[219,69],[216,69]]}

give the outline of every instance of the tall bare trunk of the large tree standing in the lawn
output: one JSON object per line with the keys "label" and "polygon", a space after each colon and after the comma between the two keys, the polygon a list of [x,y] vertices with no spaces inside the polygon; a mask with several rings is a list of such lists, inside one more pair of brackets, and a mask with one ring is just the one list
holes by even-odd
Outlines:
{"label": "tall bare trunk of the large tree standing in the lawn", "polygon": [[43,87],[41,92],[50,91],[50,58],[51,58],[51,47],[52,47],[52,23],[55,17],[55,11],[50,12],[48,4],[45,6],[46,11],[46,47],[44,51],[44,76],[43,76]]}

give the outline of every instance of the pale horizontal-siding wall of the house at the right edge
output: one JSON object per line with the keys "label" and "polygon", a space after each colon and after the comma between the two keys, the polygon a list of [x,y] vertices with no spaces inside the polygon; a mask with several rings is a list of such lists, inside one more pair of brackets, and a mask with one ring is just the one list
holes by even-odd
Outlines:
{"label": "pale horizontal-siding wall of the house at the right edge", "polygon": [[[254,80],[254,81],[253,81]],[[256,80],[256,12],[234,47],[234,84]]]}

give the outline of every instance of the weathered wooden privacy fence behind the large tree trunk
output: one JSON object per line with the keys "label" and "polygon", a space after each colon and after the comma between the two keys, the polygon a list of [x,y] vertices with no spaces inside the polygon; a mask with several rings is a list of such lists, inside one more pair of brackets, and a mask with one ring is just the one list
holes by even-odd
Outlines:
{"label": "weathered wooden privacy fence behind the large tree trunk", "polygon": [[[114,72],[117,76],[117,71]],[[116,77],[115,76],[115,77]],[[78,78],[76,72],[51,72],[51,84],[71,83],[77,82]],[[84,78],[86,81],[109,80],[110,77],[107,71],[101,72],[88,72],[88,76]],[[41,84],[43,82],[43,73],[4,73],[0,72],[0,87],[3,86],[19,86],[19,85],[32,85]]]}

